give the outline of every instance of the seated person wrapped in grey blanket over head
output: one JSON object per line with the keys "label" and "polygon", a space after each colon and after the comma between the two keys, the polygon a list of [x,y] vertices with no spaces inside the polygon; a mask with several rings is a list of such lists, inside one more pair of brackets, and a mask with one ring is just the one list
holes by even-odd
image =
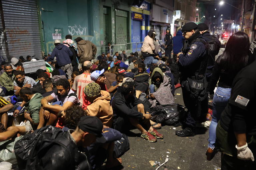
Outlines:
{"label": "seated person wrapped in grey blanket over head", "polygon": [[162,70],[156,67],[149,78],[149,102],[151,108],[157,105],[174,103],[169,79],[163,74]]}

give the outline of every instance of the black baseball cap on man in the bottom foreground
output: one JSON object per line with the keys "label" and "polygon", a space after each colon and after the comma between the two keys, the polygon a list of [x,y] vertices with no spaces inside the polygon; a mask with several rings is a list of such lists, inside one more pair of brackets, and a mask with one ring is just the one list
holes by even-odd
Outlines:
{"label": "black baseball cap on man in the bottom foreground", "polygon": [[102,135],[103,124],[99,118],[95,116],[83,116],[80,118],[78,127],[85,132],[89,132],[97,136],[98,142],[106,142],[106,138]]}

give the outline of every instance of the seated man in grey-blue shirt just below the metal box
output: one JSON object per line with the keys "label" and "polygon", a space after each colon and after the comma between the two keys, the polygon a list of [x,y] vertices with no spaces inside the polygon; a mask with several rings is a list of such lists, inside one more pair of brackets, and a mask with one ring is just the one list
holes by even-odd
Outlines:
{"label": "seated man in grey-blue shirt just below the metal box", "polygon": [[34,87],[36,85],[36,82],[34,79],[25,76],[24,71],[15,71],[15,81],[13,82],[14,85],[14,94],[16,96],[19,96],[20,89],[22,87]]}

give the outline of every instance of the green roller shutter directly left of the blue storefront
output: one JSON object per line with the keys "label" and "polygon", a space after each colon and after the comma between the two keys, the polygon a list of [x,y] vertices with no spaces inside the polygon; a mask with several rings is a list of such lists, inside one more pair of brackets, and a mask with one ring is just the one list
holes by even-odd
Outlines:
{"label": "green roller shutter directly left of the blue storefront", "polygon": [[[119,16],[117,16],[119,15]],[[116,11],[116,44],[126,44],[127,43],[127,12],[117,10]],[[114,52],[125,50],[126,45],[114,46]]]}

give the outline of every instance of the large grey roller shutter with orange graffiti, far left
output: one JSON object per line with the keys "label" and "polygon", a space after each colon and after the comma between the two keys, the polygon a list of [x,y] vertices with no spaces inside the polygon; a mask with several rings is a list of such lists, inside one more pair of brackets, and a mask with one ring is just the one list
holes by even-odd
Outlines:
{"label": "large grey roller shutter with orange graffiti, far left", "polygon": [[41,59],[36,0],[2,0],[9,54]]}

